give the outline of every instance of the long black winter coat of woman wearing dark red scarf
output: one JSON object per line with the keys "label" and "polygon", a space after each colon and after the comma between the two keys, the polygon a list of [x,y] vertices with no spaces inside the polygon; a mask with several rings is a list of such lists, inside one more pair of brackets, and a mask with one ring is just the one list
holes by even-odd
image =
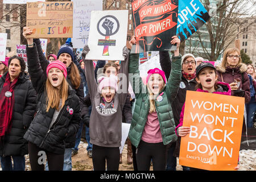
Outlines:
{"label": "long black winter coat of woman wearing dark red scarf", "polygon": [[[0,92],[7,72],[0,78]],[[27,140],[23,138],[36,112],[36,92],[26,73],[21,73],[14,88],[14,109],[10,133],[0,145],[1,156],[28,154]]]}

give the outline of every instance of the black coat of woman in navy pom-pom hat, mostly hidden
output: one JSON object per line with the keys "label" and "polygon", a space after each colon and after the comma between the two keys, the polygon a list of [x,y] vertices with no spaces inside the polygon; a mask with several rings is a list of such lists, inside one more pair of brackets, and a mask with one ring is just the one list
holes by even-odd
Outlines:
{"label": "black coat of woman in navy pom-pom hat, mostly hidden", "polygon": [[[36,48],[38,49],[40,65],[41,65],[41,67],[44,71],[44,74],[46,75],[46,68],[47,68],[49,62],[46,59],[46,56],[44,56],[44,54],[43,54],[43,50],[42,50],[42,47],[41,47],[40,40],[39,39],[33,39],[33,41],[36,44]],[[67,68],[67,72],[68,72],[67,81],[68,81],[69,85],[71,86],[71,88],[76,91],[76,95],[80,98],[79,102],[77,102],[77,103],[80,103],[81,116],[84,117],[88,113],[88,108],[86,108],[86,105],[85,105],[84,86],[83,86],[82,81],[81,81],[81,84],[80,84],[79,88],[76,89],[75,86],[73,86],[72,83],[71,83],[71,78],[69,76],[70,68]],[[65,147],[66,148],[73,148],[73,147],[75,147],[75,142],[76,142],[76,134],[74,134],[74,135],[68,134],[67,139],[66,139],[66,143],[65,143]]]}

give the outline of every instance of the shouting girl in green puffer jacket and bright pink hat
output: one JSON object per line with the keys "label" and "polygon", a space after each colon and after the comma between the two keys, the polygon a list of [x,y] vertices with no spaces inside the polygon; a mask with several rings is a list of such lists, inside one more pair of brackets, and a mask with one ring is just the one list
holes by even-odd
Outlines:
{"label": "shouting girl in green puffer jacket and bright pink hat", "polygon": [[147,89],[144,90],[139,76],[138,54],[130,55],[129,73],[132,73],[132,76],[129,78],[133,83],[136,102],[129,138],[137,148],[139,171],[148,171],[151,159],[154,170],[164,170],[167,144],[177,139],[171,108],[171,102],[176,97],[181,80],[180,40],[177,36],[172,37],[171,44],[176,44],[177,49],[172,56],[171,75],[168,82],[162,70],[150,69],[147,76]]}

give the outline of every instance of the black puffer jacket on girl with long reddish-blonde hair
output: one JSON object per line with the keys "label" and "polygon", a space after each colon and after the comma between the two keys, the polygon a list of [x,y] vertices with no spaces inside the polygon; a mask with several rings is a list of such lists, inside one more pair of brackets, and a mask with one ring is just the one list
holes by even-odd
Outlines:
{"label": "black puffer jacket on girl with long reddish-blonde hair", "polygon": [[[55,123],[50,128],[55,109],[50,108],[46,112],[45,84],[47,77],[44,75],[44,71],[40,66],[35,44],[32,48],[26,47],[26,51],[28,72],[31,76],[32,85],[38,94],[38,103],[36,106],[36,116],[24,138],[36,144],[36,146],[43,148],[43,150],[55,154],[64,154],[67,136],[75,136],[79,129],[81,121],[80,105],[77,104],[79,103],[79,97],[76,96],[75,90],[69,86],[68,98],[65,101],[65,105],[60,110]],[[69,112],[71,108],[73,109],[73,113]]]}

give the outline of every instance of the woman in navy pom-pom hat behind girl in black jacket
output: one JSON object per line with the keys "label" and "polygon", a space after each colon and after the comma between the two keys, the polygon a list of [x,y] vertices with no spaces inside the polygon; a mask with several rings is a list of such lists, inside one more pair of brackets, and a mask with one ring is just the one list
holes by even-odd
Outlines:
{"label": "woman in navy pom-pom hat behind girl in black jacket", "polygon": [[[30,35],[31,30],[28,27],[23,28],[23,32],[26,32],[26,34]],[[69,39],[68,39],[69,40]],[[47,67],[49,65],[49,61],[46,59],[46,57],[43,54],[42,47],[40,45],[40,40],[39,39],[32,39],[32,41],[36,45],[36,51],[39,56],[39,61],[40,61],[40,66],[43,69],[44,76],[47,77],[46,71]],[[34,52],[30,52],[32,49],[27,50],[27,55]],[[35,50],[33,50],[35,51]],[[77,68],[76,64],[74,61],[76,61],[76,56],[73,54],[73,48],[71,46],[70,42],[66,42],[63,46],[60,47],[59,52],[57,53],[57,59],[59,59],[62,63],[64,63],[65,67],[67,68],[67,77],[66,80],[68,84],[76,91],[76,95],[79,97],[79,102],[78,104],[80,105],[81,108],[81,116],[82,116],[82,121],[85,119],[86,113],[88,113],[88,107],[86,107],[85,104],[85,98],[84,98],[84,86],[81,82],[81,76],[79,73],[79,69]],[[54,62],[54,61],[53,61]],[[77,65],[79,65],[77,61]],[[80,122],[82,122],[80,121]],[[72,160],[71,160],[71,155],[72,155],[72,148],[75,146],[75,140],[76,140],[76,134],[68,134],[68,136],[65,138],[65,155],[64,155],[64,171],[71,171],[72,170]],[[47,165],[48,166],[48,165]],[[48,167],[46,167],[47,169]]]}

